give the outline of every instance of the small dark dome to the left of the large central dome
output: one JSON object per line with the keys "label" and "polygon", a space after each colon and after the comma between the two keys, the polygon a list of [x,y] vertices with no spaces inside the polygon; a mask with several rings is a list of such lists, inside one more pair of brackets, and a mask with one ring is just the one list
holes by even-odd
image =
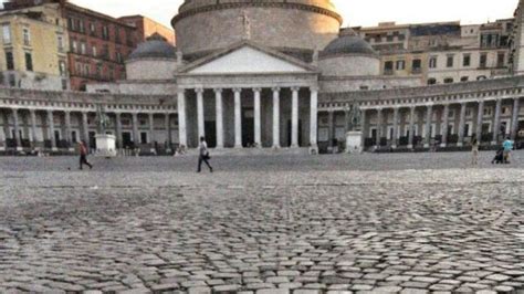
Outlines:
{"label": "small dark dome to the left of the large central dome", "polygon": [[175,46],[169,44],[166,39],[159,34],[153,34],[146,42],[138,46],[129,54],[127,60],[137,59],[177,59]]}

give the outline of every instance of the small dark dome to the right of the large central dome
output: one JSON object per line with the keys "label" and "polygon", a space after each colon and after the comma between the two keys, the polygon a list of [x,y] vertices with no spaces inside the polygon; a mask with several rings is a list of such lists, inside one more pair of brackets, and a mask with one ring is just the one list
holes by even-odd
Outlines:
{"label": "small dark dome to the right of the large central dome", "polygon": [[377,55],[377,52],[353,30],[347,29],[340,36],[333,40],[319,55],[326,57],[339,54]]}

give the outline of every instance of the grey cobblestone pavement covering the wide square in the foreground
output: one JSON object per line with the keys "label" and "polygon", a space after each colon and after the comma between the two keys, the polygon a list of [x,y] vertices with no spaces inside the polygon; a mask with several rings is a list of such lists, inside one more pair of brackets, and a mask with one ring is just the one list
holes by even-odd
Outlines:
{"label": "grey cobblestone pavement covering the wide square in the foreground", "polygon": [[0,293],[524,290],[518,160],[213,159],[0,158]]}

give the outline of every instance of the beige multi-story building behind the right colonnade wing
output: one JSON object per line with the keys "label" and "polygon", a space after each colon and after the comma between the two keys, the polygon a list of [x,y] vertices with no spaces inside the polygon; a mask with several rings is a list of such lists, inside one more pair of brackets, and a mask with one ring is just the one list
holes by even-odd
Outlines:
{"label": "beige multi-story building behind the right colonnade wing", "polygon": [[432,85],[492,78],[510,72],[513,19],[473,25],[387,22],[354,30],[380,53],[385,75],[415,75]]}

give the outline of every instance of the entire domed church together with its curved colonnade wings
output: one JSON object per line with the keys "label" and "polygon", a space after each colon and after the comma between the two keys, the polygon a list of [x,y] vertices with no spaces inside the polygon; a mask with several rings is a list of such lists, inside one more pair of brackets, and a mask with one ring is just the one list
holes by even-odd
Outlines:
{"label": "entire domed church together with its curved colonnade wings", "polygon": [[150,38],[129,55],[124,81],[90,93],[0,88],[0,153],[71,153],[81,139],[96,147],[99,106],[117,147],[143,154],[195,148],[199,137],[217,149],[336,151],[354,107],[367,150],[524,136],[518,71],[444,85],[384,75],[380,55],[340,30],[328,0],[186,0],[172,25],[177,48]]}

